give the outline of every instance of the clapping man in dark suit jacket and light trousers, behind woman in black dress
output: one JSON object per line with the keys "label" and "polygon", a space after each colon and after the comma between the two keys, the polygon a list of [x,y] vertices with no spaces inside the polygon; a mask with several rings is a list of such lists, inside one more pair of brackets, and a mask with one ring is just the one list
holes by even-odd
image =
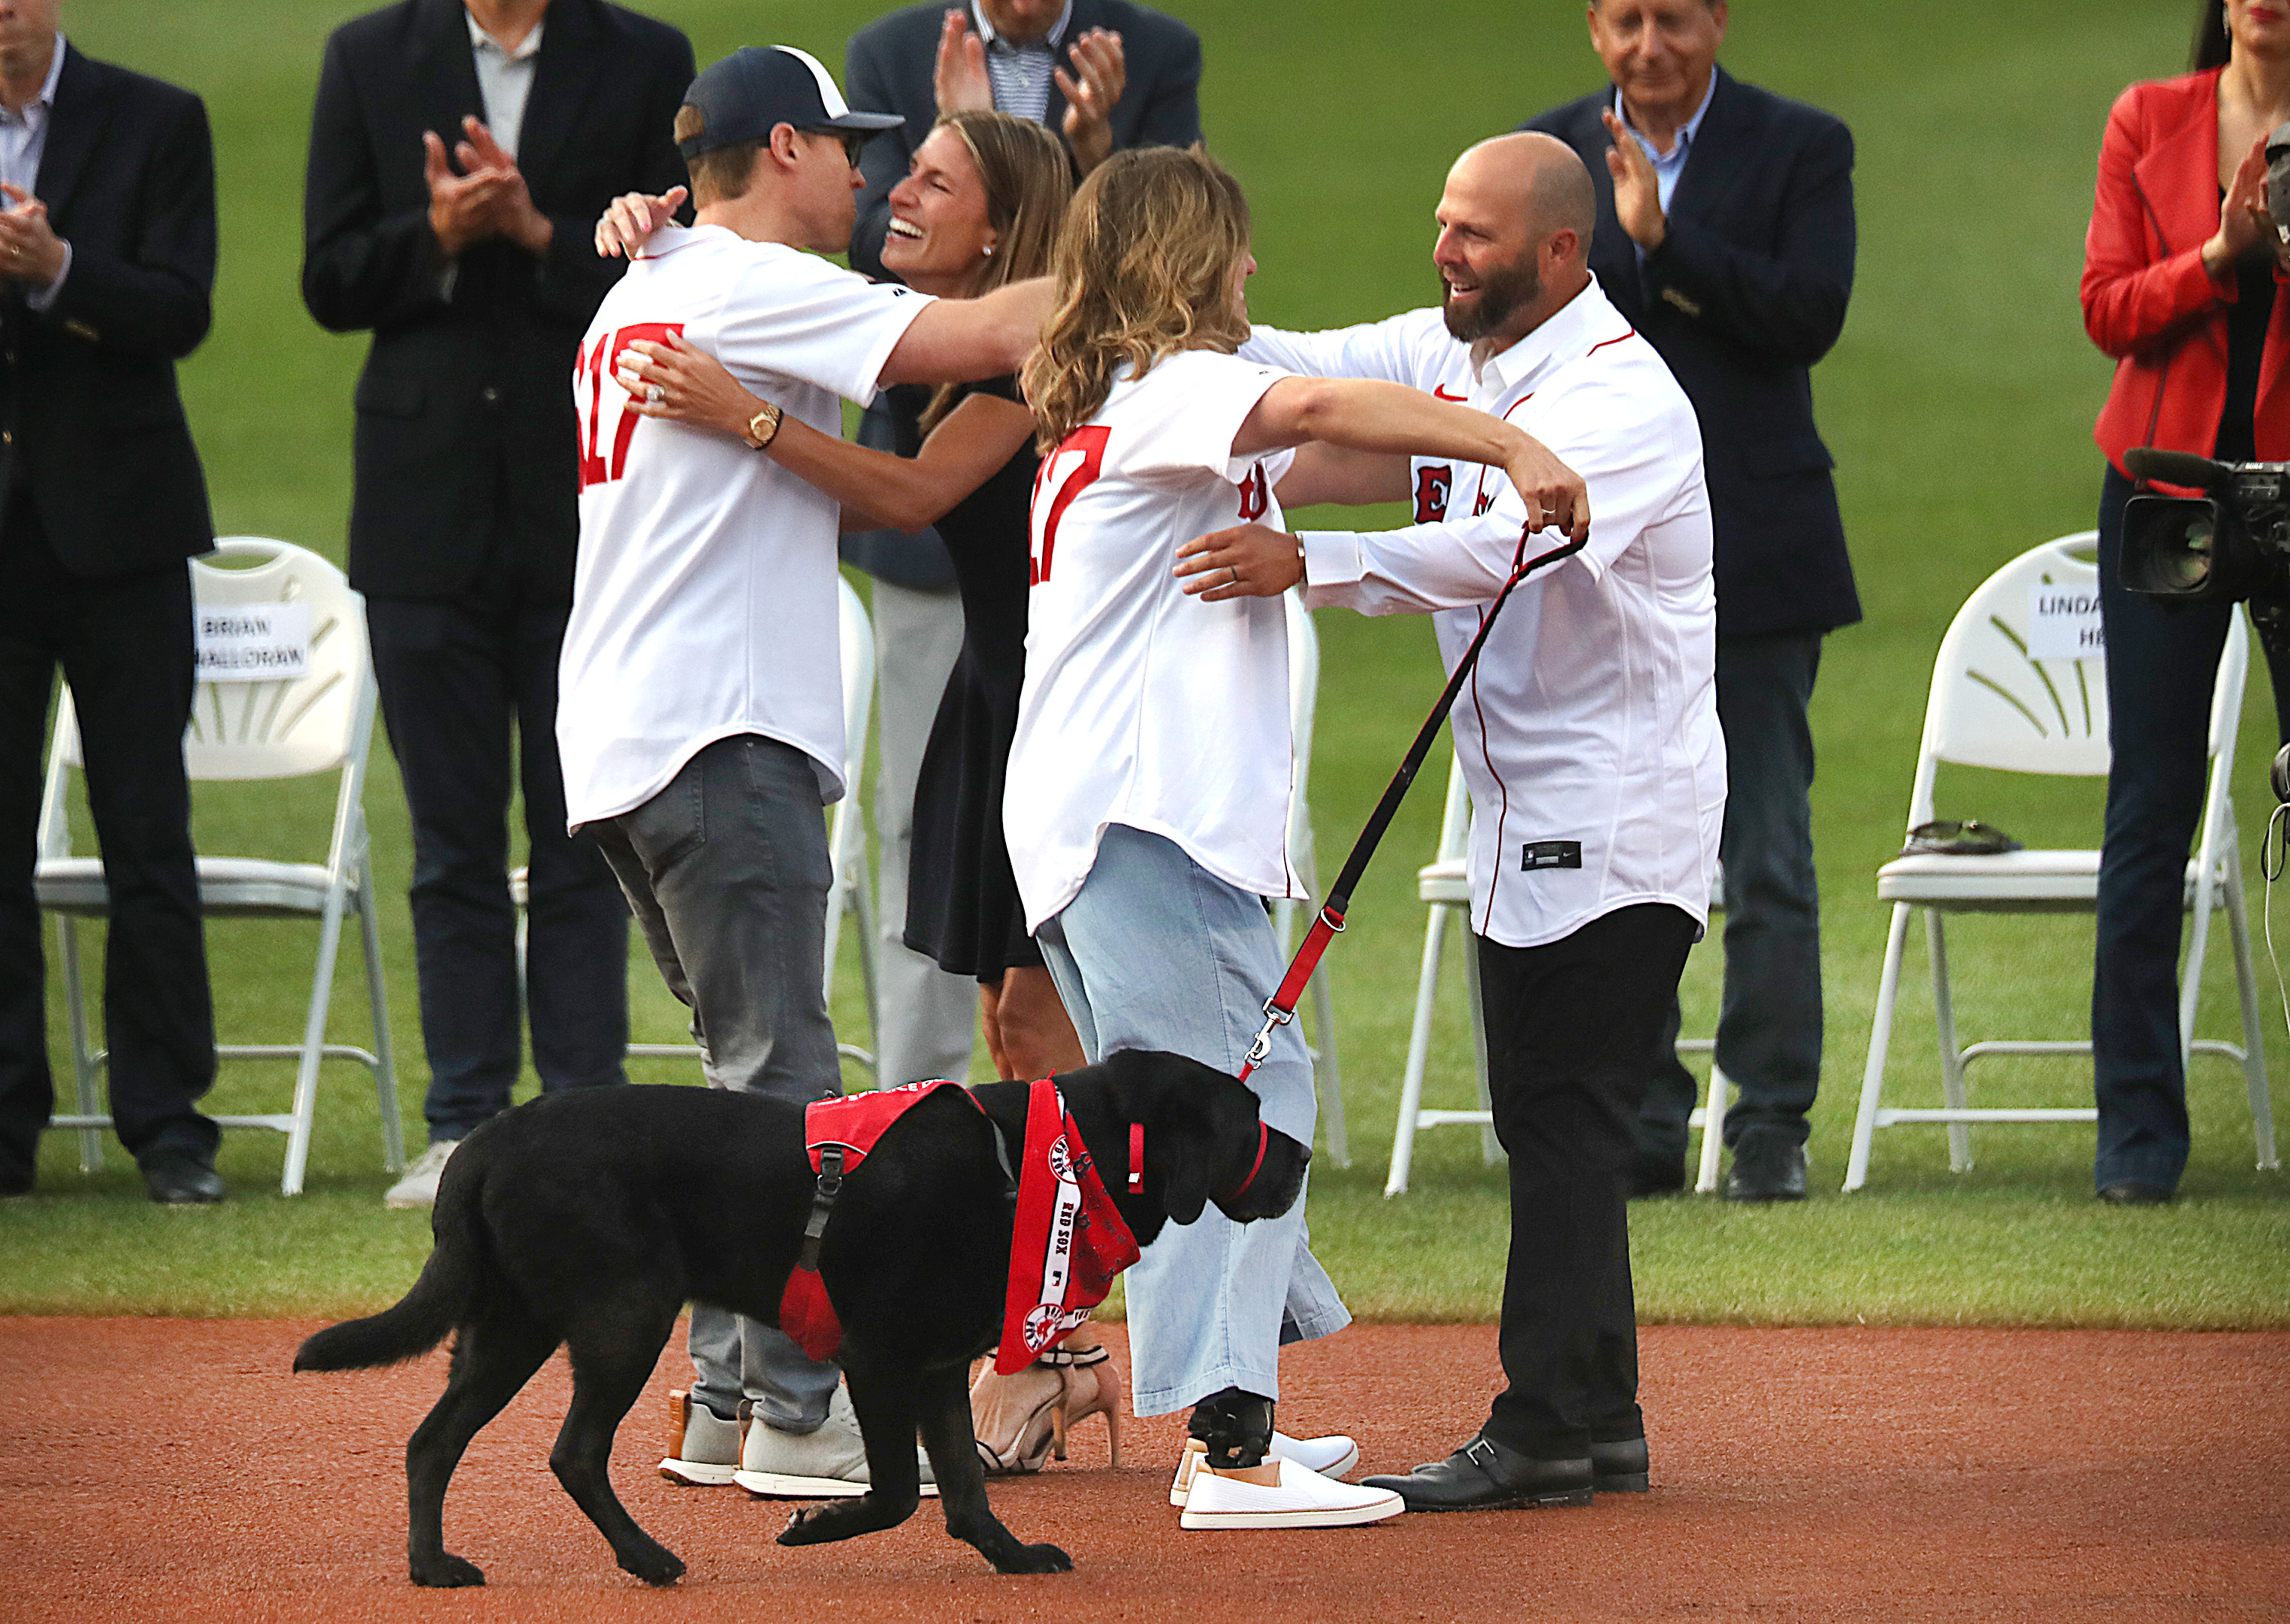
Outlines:
{"label": "clapping man in dark suit jacket and light trousers, behind woman in black dress", "polygon": [[[852,34],[843,82],[852,108],[905,124],[859,158],[866,188],[852,227],[852,266],[882,268],[891,188],[941,112],[998,108],[1060,135],[1074,172],[1113,151],[1191,147],[1200,140],[1200,39],[1184,23],[1131,0],[927,0]],[[930,392],[884,392],[859,421],[859,442],[914,456]],[[907,946],[907,850],[914,788],[946,678],[962,653],[955,566],[934,529],[854,531],[843,559],[875,577],[879,655],[875,889],[879,1010],[875,1056],[884,1081],[962,1077],[971,1058],[976,987]]]}

